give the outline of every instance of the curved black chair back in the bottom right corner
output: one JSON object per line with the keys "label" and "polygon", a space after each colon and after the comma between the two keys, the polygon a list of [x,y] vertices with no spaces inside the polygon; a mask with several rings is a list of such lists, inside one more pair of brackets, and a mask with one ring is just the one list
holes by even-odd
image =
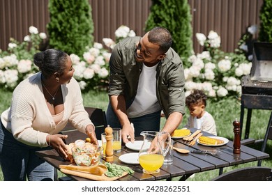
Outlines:
{"label": "curved black chair back in the bottom right corner", "polygon": [[213,178],[212,181],[271,181],[272,172],[268,167],[252,166],[235,169]]}

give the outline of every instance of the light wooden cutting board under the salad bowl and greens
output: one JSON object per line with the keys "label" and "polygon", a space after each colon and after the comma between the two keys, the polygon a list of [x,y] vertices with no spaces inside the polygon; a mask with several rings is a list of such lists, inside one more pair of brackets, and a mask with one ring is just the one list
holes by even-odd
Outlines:
{"label": "light wooden cutting board under the salad bowl and greens", "polygon": [[128,175],[128,172],[123,172],[122,176],[109,178],[109,177],[105,176],[104,174],[102,176],[96,176],[91,173],[84,173],[83,171],[72,171],[72,170],[68,170],[68,169],[61,169],[61,172],[66,173],[68,175],[78,176],[78,177],[82,177],[82,178],[86,178],[86,179],[90,179],[90,180],[96,180],[96,181],[114,181],[114,180],[117,180],[123,176]]}

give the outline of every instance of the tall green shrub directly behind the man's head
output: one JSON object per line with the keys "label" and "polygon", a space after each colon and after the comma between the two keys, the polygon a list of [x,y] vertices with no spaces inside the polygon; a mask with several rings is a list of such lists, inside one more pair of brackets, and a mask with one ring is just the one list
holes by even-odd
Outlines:
{"label": "tall green shrub directly behind the man's head", "polygon": [[181,56],[185,66],[192,54],[192,26],[187,0],[153,0],[145,31],[163,26],[172,33],[172,48]]}

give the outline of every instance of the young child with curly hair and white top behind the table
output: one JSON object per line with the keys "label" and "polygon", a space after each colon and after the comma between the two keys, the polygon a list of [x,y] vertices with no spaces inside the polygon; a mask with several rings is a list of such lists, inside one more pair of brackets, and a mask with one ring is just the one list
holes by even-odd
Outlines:
{"label": "young child with curly hair and white top behind the table", "polygon": [[217,135],[216,122],[209,112],[205,111],[207,97],[201,90],[195,90],[186,97],[186,106],[190,111],[190,117],[186,128],[195,127],[204,132]]}

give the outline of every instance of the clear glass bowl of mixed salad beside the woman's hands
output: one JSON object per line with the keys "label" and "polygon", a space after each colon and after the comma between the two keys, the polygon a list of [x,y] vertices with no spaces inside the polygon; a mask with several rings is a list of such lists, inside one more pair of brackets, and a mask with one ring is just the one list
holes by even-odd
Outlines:
{"label": "clear glass bowl of mixed salad beside the woman's hands", "polygon": [[75,145],[71,150],[77,166],[96,166],[103,155],[103,147],[91,143],[85,143],[82,146]]}

